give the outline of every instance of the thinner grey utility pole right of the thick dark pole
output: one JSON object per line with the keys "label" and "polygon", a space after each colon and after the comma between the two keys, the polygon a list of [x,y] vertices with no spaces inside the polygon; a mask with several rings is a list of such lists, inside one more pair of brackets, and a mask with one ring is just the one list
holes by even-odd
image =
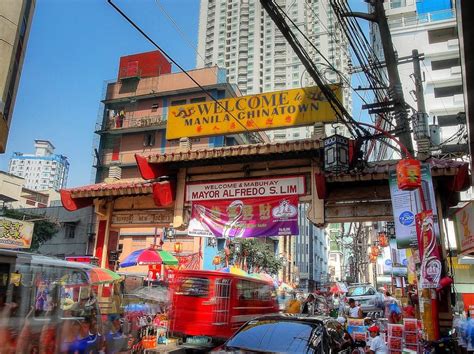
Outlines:
{"label": "thinner grey utility pole right of the thick dark pole", "polygon": [[425,160],[430,155],[430,138],[428,130],[428,114],[425,107],[425,96],[423,95],[423,78],[421,76],[420,57],[418,50],[412,50],[413,56],[413,79],[415,81],[415,97],[418,112],[414,121],[414,135],[418,147],[418,159]]}

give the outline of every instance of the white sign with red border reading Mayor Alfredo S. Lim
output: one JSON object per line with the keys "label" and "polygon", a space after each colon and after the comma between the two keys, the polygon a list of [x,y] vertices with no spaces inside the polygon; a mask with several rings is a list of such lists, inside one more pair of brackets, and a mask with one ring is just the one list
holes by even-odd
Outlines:
{"label": "white sign with red border reading Mayor Alfredo S. Lim", "polygon": [[304,176],[232,180],[186,185],[186,201],[245,199],[305,194]]}

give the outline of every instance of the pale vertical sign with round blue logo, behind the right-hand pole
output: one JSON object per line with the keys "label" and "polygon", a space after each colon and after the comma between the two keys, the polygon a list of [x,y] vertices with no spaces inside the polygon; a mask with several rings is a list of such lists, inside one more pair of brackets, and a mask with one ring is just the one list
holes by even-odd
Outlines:
{"label": "pale vertical sign with round blue logo, behind the right-hand pole", "polygon": [[[398,189],[395,170],[390,171],[388,182],[392,199],[397,247],[399,249],[410,247],[418,248],[415,215],[422,210],[420,193],[418,190],[404,191]],[[438,214],[436,211],[436,199],[429,164],[421,165],[421,185],[426,207],[427,209],[433,210],[434,231],[436,237],[439,239]]]}

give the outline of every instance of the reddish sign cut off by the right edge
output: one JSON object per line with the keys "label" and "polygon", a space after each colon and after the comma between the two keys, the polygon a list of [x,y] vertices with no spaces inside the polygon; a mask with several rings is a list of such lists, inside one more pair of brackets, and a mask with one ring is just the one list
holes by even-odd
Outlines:
{"label": "reddish sign cut off by the right edge", "polygon": [[474,202],[454,214],[454,229],[461,254],[474,253]]}

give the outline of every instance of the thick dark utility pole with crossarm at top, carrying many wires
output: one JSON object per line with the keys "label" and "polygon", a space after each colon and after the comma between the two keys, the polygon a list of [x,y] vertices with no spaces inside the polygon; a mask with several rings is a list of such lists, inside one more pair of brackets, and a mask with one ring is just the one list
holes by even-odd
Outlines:
{"label": "thick dark utility pole with crossarm at top, carrying many wires", "polygon": [[[392,36],[388,27],[385,9],[383,7],[384,0],[370,0],[374,12],[371,14],[361,12],[349,12],[344,16],[358,17],[371,22],[376,22],[379,26],[380,37],[382,38],[382,48],[385,57],[385,65],[389,80],[389,91],[391,100],[393,101],[393,110],[397,128],[401,131],[399,134],[400,142],[405,145],[408,152],[413,155],[413,143],[410,133],[410,124],[408,122],[408,112],[403,98],[403,89],[398,74],[397,57],[393,49]],[[403,152],[402,152],[403,154]]]}

